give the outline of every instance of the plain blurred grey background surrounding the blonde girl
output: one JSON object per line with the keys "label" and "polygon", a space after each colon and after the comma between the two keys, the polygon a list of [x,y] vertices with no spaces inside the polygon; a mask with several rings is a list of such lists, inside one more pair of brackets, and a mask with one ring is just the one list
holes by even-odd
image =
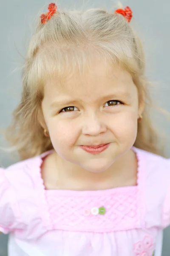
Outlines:
{"label": "plain blurred grey background surrounding the blonde girl", "polygon": [[[18,104],[21,92],[20,68],[26,55],[26,44],[34,27],[37,13],[45,6],[45,0],[0,0],[0,128],[11,121],[11,113]],[[111,9],[114,0],[62,0],[59,8],[103,7]],[[170,111],[170,1],[164,0],[122,0],[124,6],[133,10],[133,25],[139,29],[144,43],[147,61],[147,76],[154,82],[152,93],[159,106]],[[161,115],[155,115],[156,124],[170,135],[170,122]],[[0,135],[0,146],[6,143]],[[167,141],[170,157],[170,143]],[[11,154],[0,151],[0,165],[8,166],[17,161]],[[164,231],[163,256],[170,255],[170,228]],[[7,236],[0,235],[0,256],[7,256]]]}

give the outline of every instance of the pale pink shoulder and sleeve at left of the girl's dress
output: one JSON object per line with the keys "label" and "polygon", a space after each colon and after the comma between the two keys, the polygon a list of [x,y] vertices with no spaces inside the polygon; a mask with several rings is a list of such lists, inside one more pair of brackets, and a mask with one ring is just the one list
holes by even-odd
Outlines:
{"label": "pale pink shoulder and sleeve at left of the girl's dress", "polygon": [[39,194],[43,195],[40,172],[43,155],[0,168],[1,232],[24,229],[37,216]]}

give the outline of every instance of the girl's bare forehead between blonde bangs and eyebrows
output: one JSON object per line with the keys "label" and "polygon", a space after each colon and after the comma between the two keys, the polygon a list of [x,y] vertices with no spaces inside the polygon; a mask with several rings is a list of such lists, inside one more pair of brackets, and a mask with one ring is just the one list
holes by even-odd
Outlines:
{"label": "girl's bare forehead between blonde bangs and eyebrows", "polygon": [[118,65],[94,61],[83,73],[74,72],[65,78],[52,76],[44,87],[44,97],[70,96],[88,98],[101,97],[108,93],[130,93],[134,91],[133,80],[129,73]]}

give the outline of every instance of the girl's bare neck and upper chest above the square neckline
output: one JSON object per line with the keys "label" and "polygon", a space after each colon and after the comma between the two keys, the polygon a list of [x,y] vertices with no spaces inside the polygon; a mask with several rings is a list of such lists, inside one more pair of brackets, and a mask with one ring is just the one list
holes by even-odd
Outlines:
{"label": "girl's bare neck and upper chest above the square neckline", "polygon": [[132,150],[127,151],[107,170],[100,173],[89,172],[64,160],[57,153],[51,155],[51,161],[54,167],[53,175],[50,173],[51,182],[57,184],[56,189],[100,190],[136,185],[137,161]]}

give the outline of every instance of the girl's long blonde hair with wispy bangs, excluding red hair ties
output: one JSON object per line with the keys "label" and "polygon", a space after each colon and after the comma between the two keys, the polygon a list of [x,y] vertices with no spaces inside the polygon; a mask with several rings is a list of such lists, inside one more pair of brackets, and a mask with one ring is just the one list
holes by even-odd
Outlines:
{"label": "girl's long blonde hair with wispy bangs, excluding red hair ties", "polygon": [[46,79],[53,73],[62,78],[76,69],[83,72],[96,57],[129,72],[138,89],[139,100],[145,102],[134,146],[163,154],[149,115],[152,102],[149,81],[144,75],[141,41],[122,15],[89,9],[57,12],[46,24],[39,22],[32,36],[23,67],[22,99],[6,132],[22,160],[53,148],[39,122],[43,118],[41,102]]}

